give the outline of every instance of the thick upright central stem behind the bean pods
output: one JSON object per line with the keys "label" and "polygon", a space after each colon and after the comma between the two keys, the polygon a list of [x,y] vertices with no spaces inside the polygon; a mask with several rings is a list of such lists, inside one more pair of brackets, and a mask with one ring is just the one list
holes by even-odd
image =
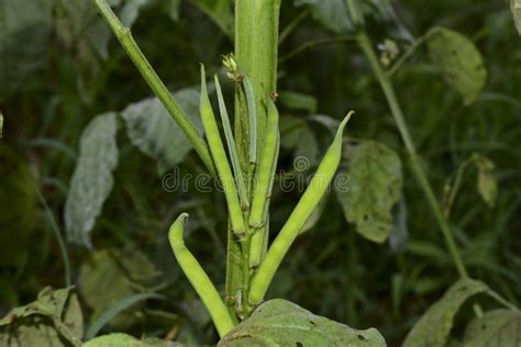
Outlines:
{"label": "thick upright central stem behind the bean pods", "polygon": [[[266,137],[267,101],[270,94],[276,92],[279,11],[280,0],[235,1],[235,59],[239,70],[250,78],[255,94],[256,158],[259,158]],[[255,189],[253,182],[255,167],[250,165],[248,160],[251,157],[248,149],[252,148],[248,108],[246,96],[241,91],[241,85],[237,83],[236,88],[235,141],[243,170],[248,172],[247,189],[248,197],[252,197]],[[246,211],[245,215],[248,216],[248,214],[250,212]],[[229,255],[226,265],[226,283],[229,283],[226,295],[235,300],[241,299],[236,305],[241,310],[241,315],[245,316],[248,315],[251,309],[247,300],[252,276],[248,265],[251,237],[251,233],[243,240],[234,238],[233,235],[229,236],[229,253],[233,255]],[[254,254],[266,253],[265,243],[254,244],[263,248]],[[237,256],[241,257],[241,271],[237,271],[237,265],[234,262]],[[242,282],[240,287],[239,281]],[[244,292],[244,295],[237,295],[237,292]]]}

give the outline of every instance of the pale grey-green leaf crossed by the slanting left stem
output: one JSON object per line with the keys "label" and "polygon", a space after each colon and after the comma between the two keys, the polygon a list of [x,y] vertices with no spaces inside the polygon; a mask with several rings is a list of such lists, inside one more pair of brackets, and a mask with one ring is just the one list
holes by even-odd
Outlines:
{"label": "pale grey-green leaf crossed by the slanting left stem", "polygon": [[[174,93],[179,105],[202,133],[199,117],[199,90],[181,89]],[[157,98],[145,99],[123,110],[131,142],[144,154],[157,159],[159,174],[182,161],[191,144]]]}

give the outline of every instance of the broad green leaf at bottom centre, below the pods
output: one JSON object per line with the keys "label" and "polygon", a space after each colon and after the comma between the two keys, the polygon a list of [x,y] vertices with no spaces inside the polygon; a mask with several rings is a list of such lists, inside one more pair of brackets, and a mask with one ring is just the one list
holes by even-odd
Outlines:
{"label": "broad green leaf at bottom centre, below the pods", "polygon": [[275,299],[260,304],[218,346],[379,347],[386,346],[386,343],[375,328],[357,331],[314,315],[289,301]]}

